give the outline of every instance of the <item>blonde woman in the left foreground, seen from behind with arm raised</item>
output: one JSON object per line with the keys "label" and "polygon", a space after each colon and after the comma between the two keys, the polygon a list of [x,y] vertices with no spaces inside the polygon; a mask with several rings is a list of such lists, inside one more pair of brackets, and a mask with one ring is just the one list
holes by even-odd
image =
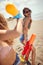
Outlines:
{"label": "blonde woman in the left foreground, seen from behind with arm raised", "polygon": [[16,52],[10,47],[14,38],[20,35],[14,30],[9,30],[7,20],[0,14],[0,65],[23,65]]}

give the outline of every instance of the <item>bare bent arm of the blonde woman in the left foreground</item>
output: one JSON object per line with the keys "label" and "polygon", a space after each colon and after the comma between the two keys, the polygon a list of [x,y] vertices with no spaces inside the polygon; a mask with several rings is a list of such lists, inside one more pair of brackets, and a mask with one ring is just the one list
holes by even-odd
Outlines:
{"label": "bare bent arm of the blonde woman in the left foreground", "polygon": [[20,34],[16,30],[0,30],[0,40],[17,38]]}

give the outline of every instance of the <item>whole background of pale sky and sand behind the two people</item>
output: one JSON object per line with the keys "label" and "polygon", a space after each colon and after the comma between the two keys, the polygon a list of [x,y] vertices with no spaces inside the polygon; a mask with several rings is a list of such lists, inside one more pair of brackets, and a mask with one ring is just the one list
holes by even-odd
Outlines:
{"label": "whole background of pale sky and sand behind the two people", "polygon": [[[28,31],[28,39],[35,33],[36,39],[34,41],[34,47],[36,48],[36,65],[40,63],[43,65],[43,0],[0,0],[0,13],[2,13],[8,20],[9,29],[13,29],[16,25],[16,19],[12,19],[10,14],[5,11],[5,6],[7,3],[13,3],[17,9],[20,11],[21,15],[24,7],[29,7],[32,10],[32,26]],[[20,49],[23,49],[19,37],[14,39],[13,48],[19,54]]]}

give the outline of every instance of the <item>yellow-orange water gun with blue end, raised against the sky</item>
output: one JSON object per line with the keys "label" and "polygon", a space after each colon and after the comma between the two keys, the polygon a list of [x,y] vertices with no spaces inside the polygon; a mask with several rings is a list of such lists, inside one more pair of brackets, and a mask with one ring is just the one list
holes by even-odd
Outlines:
{"label": "yellow-orange water gun with blue end, raised against the sky", "polygon": [[19,10],[13,4],[7,4],[5,10],[13,16],[13,18],[21,18]]}

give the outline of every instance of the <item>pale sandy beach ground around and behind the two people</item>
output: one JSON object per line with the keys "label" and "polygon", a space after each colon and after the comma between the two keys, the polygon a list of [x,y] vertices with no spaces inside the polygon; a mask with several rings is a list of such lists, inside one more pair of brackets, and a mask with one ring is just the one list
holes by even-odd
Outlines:
{"label": "pale sandy beach ground around and behind the two people", "polygon": [[[16,25],[16,20],[8,21],[9,29],[13,29]],[[28,31],[28,39],[30,38],[31,34],[36,34],[36,39],[34,41],[34,47],[36,48],[36,65],[40,63],[43,65],[43,20],[36,20],[32,22],[31,29]],[[13,48],[15,51],[20,54],[21,50],[23,49],[23,45],[20,43],[19,38],[14,40]]]}

